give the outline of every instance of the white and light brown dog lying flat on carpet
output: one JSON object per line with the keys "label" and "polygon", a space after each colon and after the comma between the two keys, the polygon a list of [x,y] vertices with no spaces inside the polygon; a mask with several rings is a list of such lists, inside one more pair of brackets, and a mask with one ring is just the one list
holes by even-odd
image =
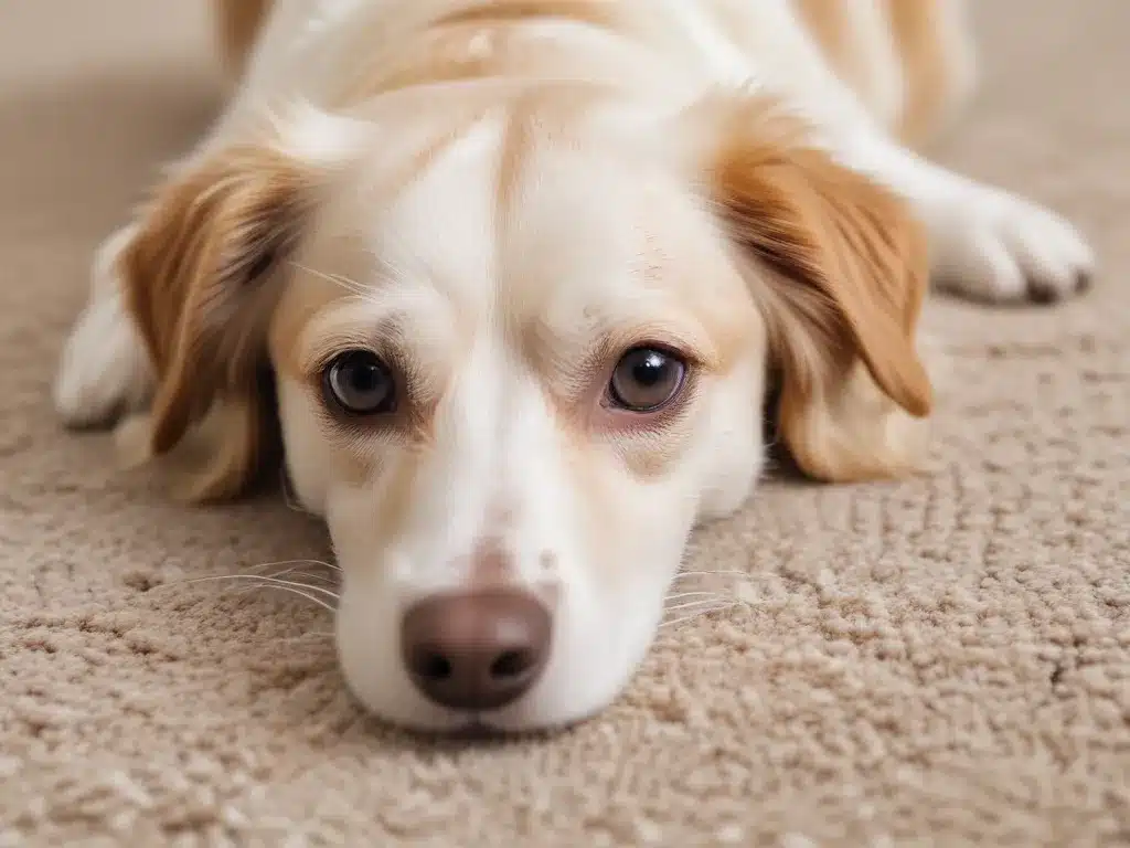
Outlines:
{"label": "white and light brown dog lying flat on carpet", "polygon": [[[192,503],[285,468],[337,646],[416,730],[567,726],[628,685],[770,426],[828,483],[922,468],[931,285],[1094,268],[922,144],[956,0],[226,0],[231,90],[94,261],[54,403]],[[772,401],[772,403],[771,403]]]}

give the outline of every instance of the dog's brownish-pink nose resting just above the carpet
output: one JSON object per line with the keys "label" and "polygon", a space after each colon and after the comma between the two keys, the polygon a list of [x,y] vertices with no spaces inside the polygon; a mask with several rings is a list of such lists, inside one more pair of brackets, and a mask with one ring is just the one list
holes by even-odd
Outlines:
{"label": "dog's brownish-pink nose resting just above the carpet", "polygon": [[518,590],[437,596],[411,607],[401,624],[405,665],[435,703],[468,712],[516,700],[549,656],[553,620]]}

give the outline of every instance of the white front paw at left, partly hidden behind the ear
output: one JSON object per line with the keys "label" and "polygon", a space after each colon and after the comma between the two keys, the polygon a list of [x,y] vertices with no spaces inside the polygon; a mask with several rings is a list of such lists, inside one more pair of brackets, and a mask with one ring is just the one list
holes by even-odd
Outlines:
{"label": "white front paw at left, partly hidden behind the ear", "polygon": [[94,263],[90,301],[63,347],[53,397],[73,427],[107,425],[142,406],[153,386],[145,343],[130,319],[114,265],[129,228],[106,241]]}

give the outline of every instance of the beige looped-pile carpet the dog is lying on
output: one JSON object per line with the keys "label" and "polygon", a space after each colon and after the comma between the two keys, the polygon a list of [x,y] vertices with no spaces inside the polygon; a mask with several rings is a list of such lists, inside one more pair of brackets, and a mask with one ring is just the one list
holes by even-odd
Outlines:
{"label": "beige looped-pile carpet the dog is lying on", "polygon": [[749,612],[668,633],[548,741],[425,743],[344,695],[329,616],[176,585],[324,555],[186,512],[47,387],[92,248],[215,107],[201,2],[0,12],[0,846],[1130,845],[1130,3],[979,0],[949,162],[1104,259],[1054,310],[931,306],[932,478],[776,484],[704,533]]}

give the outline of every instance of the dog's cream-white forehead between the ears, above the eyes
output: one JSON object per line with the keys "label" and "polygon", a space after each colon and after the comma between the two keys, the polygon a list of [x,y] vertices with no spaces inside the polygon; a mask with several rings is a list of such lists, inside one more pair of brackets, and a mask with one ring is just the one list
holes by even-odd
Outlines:
{"label": "dog's cream-white forehead between the ears, above the eyes", "polygon": [[615,139],[507,114],[415,149],[402,161],[375,152],[321,222],[331,237],[307,253],[375,295],[350,306],[358,322],[393,310],[409,336],[450,336],[445,349],[503,332],[564,357],[647,327],[712,345],[733,335],[741,283],[678,175]]}

